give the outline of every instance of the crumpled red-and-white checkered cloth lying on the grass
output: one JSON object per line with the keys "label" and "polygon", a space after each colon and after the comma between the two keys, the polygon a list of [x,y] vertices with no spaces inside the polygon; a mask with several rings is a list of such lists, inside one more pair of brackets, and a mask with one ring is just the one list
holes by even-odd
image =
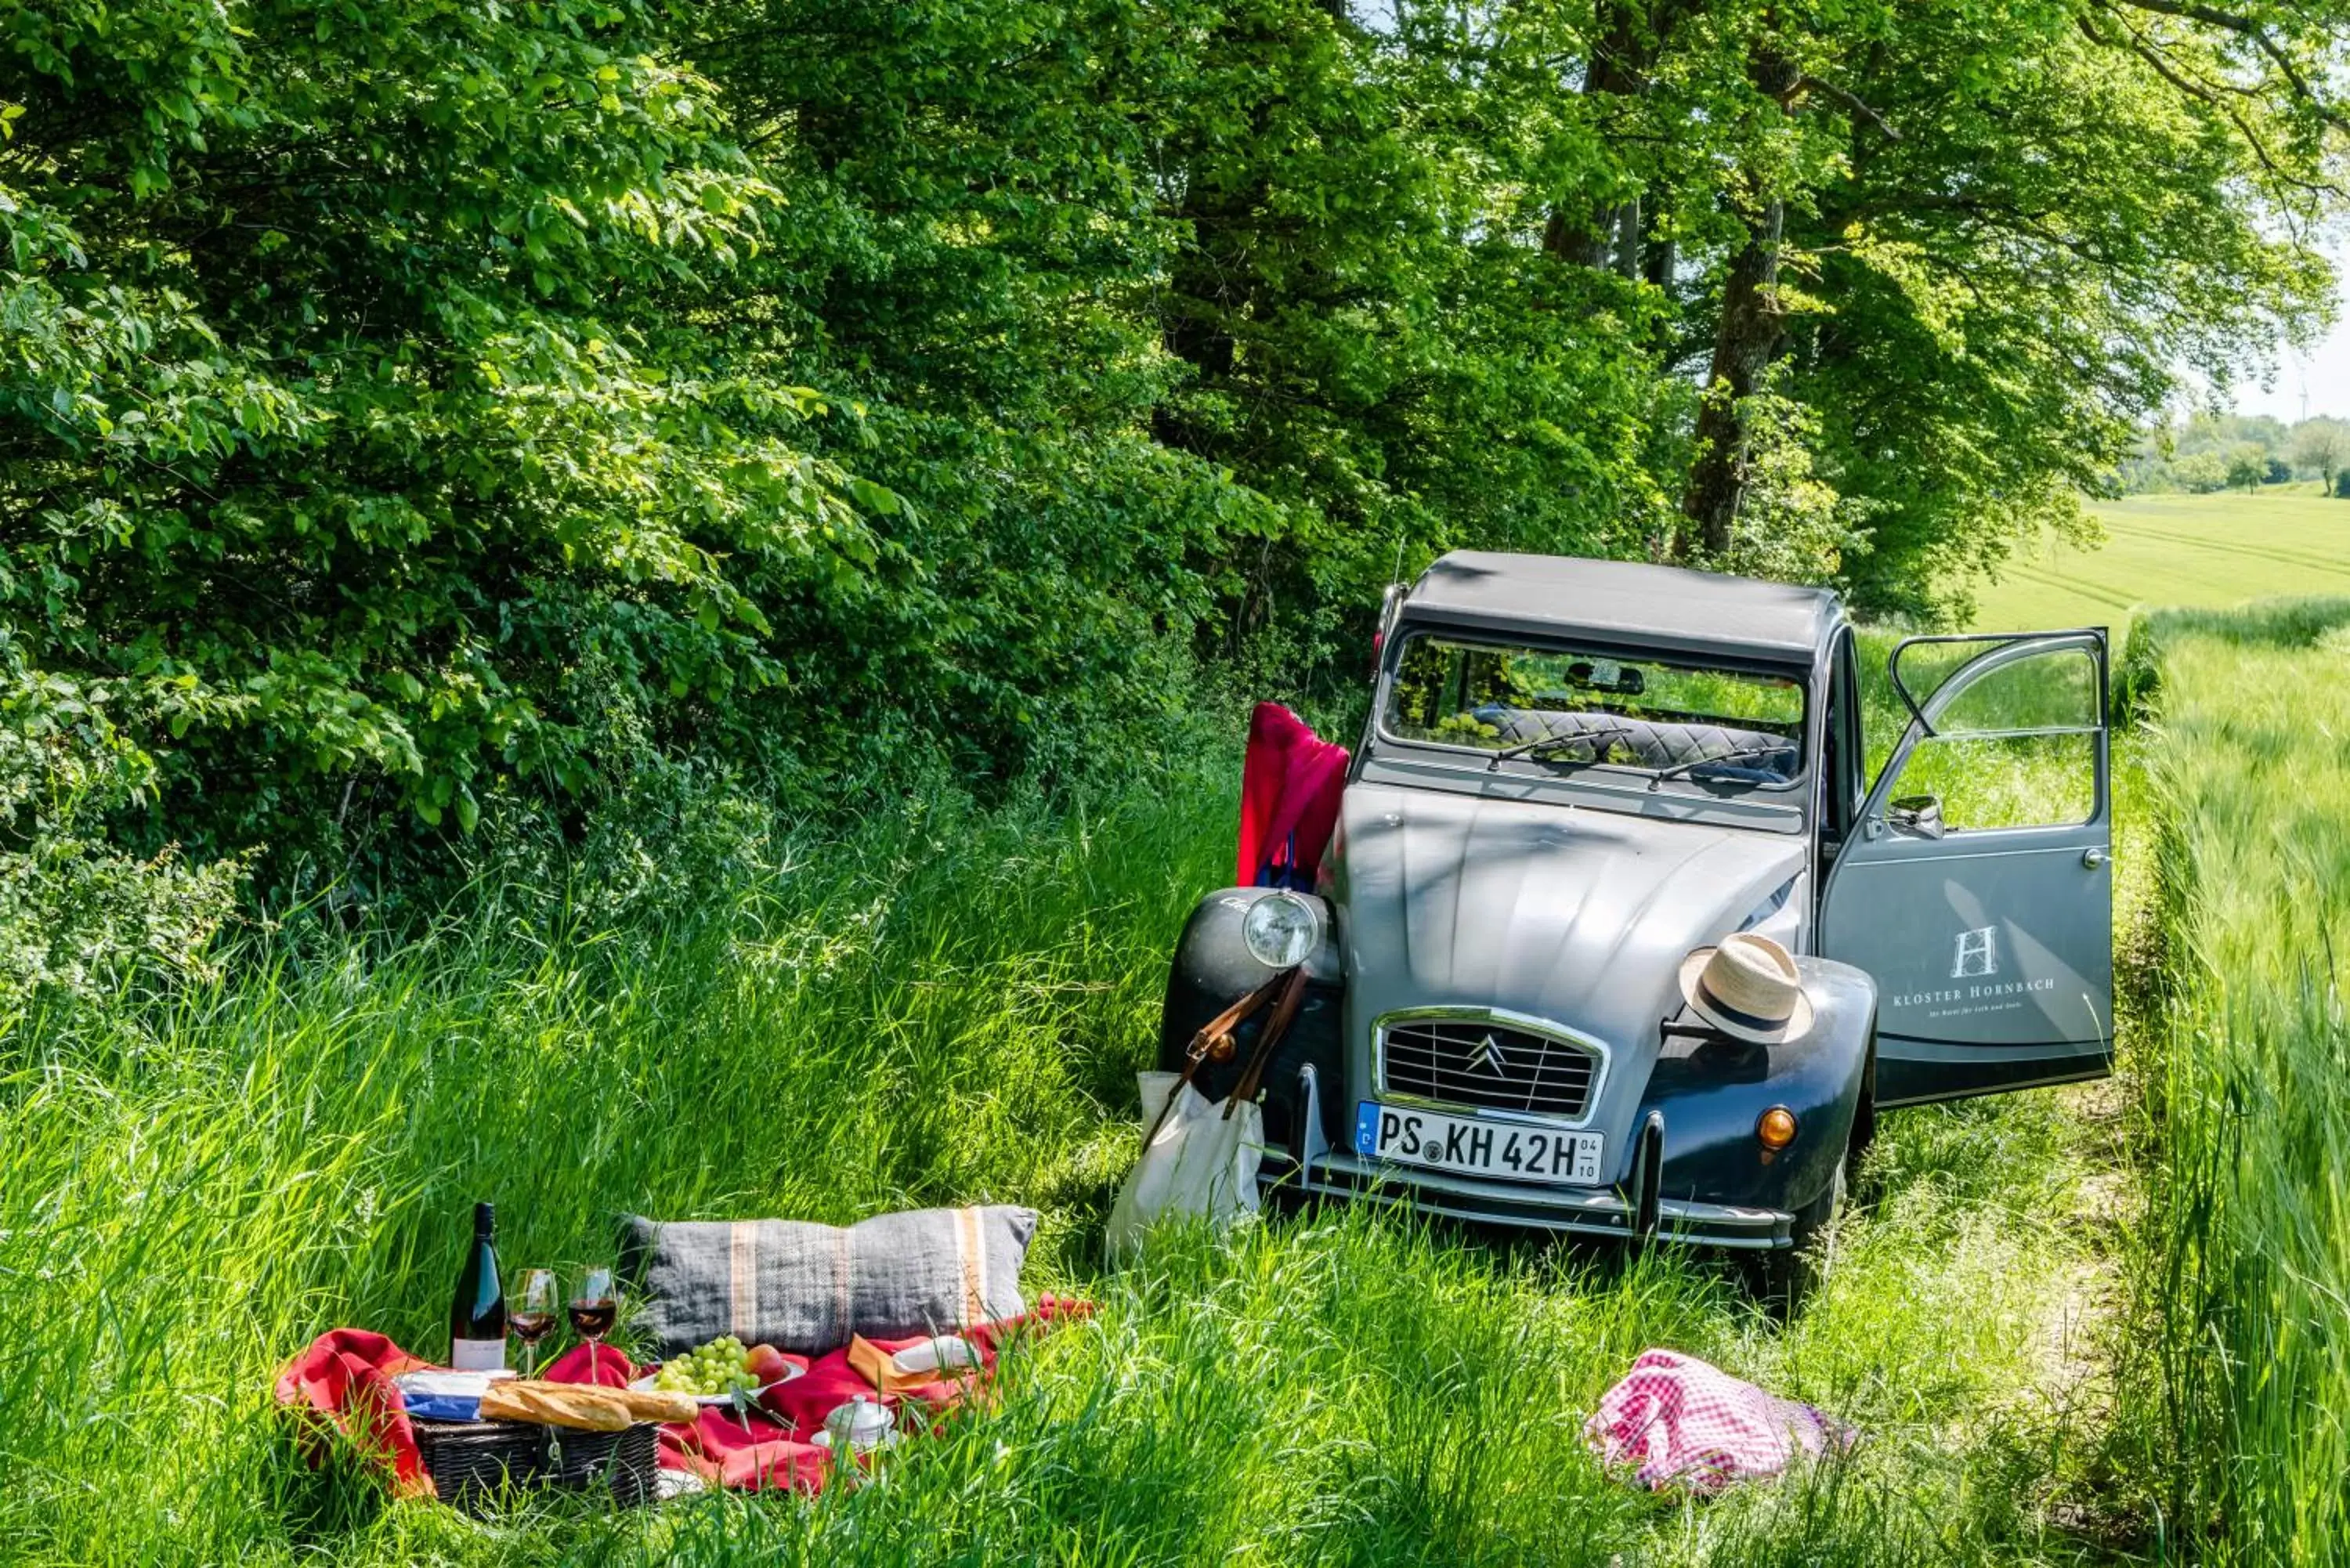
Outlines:
{"label": "crumpled red-and-white checkered cloth lying on the grass", "polygon": [[1584,1441],[1600,1462],[1638,1465],[1633,1474],[1650,1490],[1680,1483],[1718,1493],[1732,1481],[1777,1476],[1798,1446],[1819,1458],[1852,1448],[1859,1436],[1833,1415],[1673,1349],[1643,1349],[1584,1422]]}

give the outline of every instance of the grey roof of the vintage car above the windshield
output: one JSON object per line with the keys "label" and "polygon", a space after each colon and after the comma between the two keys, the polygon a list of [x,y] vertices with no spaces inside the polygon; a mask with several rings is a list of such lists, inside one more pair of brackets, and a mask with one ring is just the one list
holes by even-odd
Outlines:
{"label": "grey roof of the vintage car above the windshield", "polygon": [[1758,658],[1812,654],[1842,623],[1826,588],[1598,562],[1574,555],[1452,550],[1403,599],[1415,621],[1511,632],[1589,632],[1603,642],[1706,646]]}

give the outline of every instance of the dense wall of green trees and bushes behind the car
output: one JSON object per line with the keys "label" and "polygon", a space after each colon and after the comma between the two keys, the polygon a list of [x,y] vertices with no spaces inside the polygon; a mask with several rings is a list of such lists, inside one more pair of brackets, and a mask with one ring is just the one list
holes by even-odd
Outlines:
{"label": "dense wall of green trees and bushes behind the car", "polygon": [[12,842],[1072,776],[1448,545],[1936,614],[2326,296],[2343,9],[26,0]]}

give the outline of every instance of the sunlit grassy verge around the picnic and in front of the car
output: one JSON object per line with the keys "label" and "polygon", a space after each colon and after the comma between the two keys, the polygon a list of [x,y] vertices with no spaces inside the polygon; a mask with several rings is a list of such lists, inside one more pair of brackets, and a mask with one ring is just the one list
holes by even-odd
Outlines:
{"label": "sunlit grassy verge around the picnic and in front of the car", "polygon": [[[1086,816],[787,844],[719,910],[397,952],[254,954],[139,1037],[0,1039],[0,1559],[70,1563],[2075,1561],[2101,1420],[2066,1281],[2099,1133],[2059,1095],[1889,1117],[1831,1288],[1788,1328],[1716,1262],[1372,1213],[1100,1274],[1166,947],[1224,870],[1231,759]],[[571,900],[580,907],[583,900]],[[508,1265],[611,1220],[1020,1199],[1032,1288],[1097,1326],[886,1483],[477,1526],[287,1465],[275,1366],[329,1324],[432,1347],[475,1197]],[[1647,1345],[1864,1427],[1699,1505],[1579,1436]]]}

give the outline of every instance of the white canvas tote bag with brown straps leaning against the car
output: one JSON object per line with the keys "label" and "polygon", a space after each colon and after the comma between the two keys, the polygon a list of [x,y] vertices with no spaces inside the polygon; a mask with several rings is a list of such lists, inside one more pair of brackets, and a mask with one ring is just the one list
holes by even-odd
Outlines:
{"label": "white canvas tote bag with brown straps leaning against the car", "polygon": [[[1304,999],[1304,966],[1288,969],[1217,1013],[1191,1037],[1182,1072],[1137,1072],[1142,1091],[1142,1159],[1109,1206],[1107,1251],[1130,1258],[1142,1234],[1166,1215],[1215,1222],[1257,1211],[1257,1164],[1264,1159],[1264,1112],[1257,1084],[1281,1034]],[[1191,1079],[1201,1063],[1231,1060],[1231,1032],[1274,1001],[1274,1016],[1250,1051],[1248,1070],[1222,1105],[1210,1105]]]}

